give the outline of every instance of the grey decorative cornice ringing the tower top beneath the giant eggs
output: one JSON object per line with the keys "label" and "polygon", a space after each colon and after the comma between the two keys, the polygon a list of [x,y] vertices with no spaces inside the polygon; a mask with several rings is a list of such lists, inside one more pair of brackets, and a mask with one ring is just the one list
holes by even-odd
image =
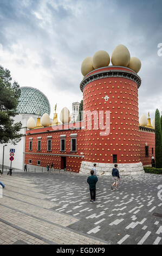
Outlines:
{"label": "grey decorative cornice ringing the tower top beneath the giant eggs", "polygon": [[[120,68],[120,67],[119,67]],[[94,70],[93,70],[94,71]],[[141,85],[141,78],[128,70],[120,70],[120,69],[107,69],[107,70],[102,70],[102,71],[98,71],[96,73],[93,73],[87,77],[85,77],[82,82],[80,83],[80,89],[81,92],[83,92],[83,89],[85,88],[85,86],[90,83],[93,82],[95,80],[99,80],[102,78],[107,78],[107,77],[122,77],[122,78],[127,78],[132,80],[133,82],[137,83],[138,88]]]}

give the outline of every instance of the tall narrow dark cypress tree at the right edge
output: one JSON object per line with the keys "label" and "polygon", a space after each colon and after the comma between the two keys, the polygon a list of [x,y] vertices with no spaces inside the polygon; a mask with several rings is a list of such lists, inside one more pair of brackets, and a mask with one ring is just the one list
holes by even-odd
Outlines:
{"label": "tall narrow dark cypress tree at the right edge", "polygon": [[162,168],[162,137],[158,109],[155,111],[155,167]]}

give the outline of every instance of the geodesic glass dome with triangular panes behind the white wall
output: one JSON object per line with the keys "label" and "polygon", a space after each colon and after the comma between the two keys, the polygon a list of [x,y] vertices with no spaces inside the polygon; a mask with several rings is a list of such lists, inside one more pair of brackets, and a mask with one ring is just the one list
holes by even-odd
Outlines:
{"label": "geodesic glass dome with triangular panes behind the white wall", "polygon": [[50,114],[50,105],[47,97],[38,89],[33,87],[20,87],[20,102],[17,112],[21,114]]}

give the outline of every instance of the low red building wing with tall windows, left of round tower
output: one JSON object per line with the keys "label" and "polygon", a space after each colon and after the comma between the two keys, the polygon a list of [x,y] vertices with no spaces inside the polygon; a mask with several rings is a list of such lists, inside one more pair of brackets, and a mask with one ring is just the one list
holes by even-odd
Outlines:
{"label": "low red building wing with tall windows, left of round tower", "polygon": [[[47,167],[47,164],[53,162],[55,169],[64,168],[64,159],[66,157],[66,169],[72,172],[79,172],[82,160],[82,130],[80,130],[81,123],[77,122],[70,125],[59,125],[54,127],[43,127],[27,131],[25,141],[25,163],[37,166],[37,161],[40,161],[40,166]],[[77,130],[71,130],[75,127]],[[79,130],[78,130],[79,129]],[[70,135],[77,134],[76,136],[76,151],[71,151]],[[65,151],[61,151],[60,142],[61,137],[66,140]],[[29,143],[32,140],[32,149],[29,148]],[[51,150],[48,150],[48,140],[51,140]],[[41,150],[38,150],[38,141],[41,141]],[[70,155],[70,156],[69,156]]]}

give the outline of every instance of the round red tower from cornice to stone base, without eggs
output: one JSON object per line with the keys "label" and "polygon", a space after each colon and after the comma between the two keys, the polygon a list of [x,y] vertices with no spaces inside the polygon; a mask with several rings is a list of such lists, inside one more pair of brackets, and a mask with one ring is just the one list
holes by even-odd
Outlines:
{"label": "round red tower from cornice to stone base, without eggs", "polygon": [[99,68],[85,76],[80,84],[85,114],[81,172],[92,168],[92,162],[97,163],[98,172],[111,172],[115,162],[124,174],[144,172],[138,118],[140,84],[133,70],[121,66]]}

